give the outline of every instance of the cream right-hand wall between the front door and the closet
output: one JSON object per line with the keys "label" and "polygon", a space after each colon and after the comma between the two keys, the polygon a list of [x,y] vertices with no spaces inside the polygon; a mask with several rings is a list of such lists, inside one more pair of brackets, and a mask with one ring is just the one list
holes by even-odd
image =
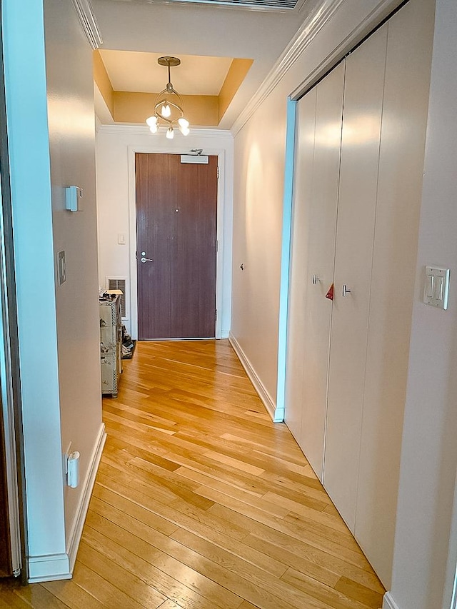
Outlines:
{"label": "cream right-hand wall between the front door and the closet", "polygon": [[286,96],[278,88],[235,139],[231,321],[231,335],[273,404],[285,144]]}

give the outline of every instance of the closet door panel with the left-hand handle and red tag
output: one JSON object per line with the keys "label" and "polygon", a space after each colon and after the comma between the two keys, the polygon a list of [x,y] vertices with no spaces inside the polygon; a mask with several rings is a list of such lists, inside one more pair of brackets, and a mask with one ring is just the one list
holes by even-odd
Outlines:
{"label": "closet door panel with the left-hand handle and red tag", "polygon": [[343,116],[344,64],[318,84],[313,191],[308,225],[308,269],[303,345],[301,441],[311,467],[322,480],[326,423],[328,349],[332,302],[336,213]]}

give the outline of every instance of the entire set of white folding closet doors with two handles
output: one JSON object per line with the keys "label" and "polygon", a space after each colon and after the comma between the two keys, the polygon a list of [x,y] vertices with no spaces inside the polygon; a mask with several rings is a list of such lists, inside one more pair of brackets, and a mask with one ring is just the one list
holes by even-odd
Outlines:
{"label": "entire set of white folding closet doors with two handles", "polygon": [[298,102],[286,423],[386,587],[433,15],[409,1]]}

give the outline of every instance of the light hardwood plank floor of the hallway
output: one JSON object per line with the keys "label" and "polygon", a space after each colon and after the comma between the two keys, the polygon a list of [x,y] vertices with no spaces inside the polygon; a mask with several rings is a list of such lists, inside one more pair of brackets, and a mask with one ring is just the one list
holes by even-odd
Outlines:
{"label": "light hardwood plank floor of the hallway", "polygon": [[139,343],[72,580],[0,608],[378,609],[383,586],[228,341]]}

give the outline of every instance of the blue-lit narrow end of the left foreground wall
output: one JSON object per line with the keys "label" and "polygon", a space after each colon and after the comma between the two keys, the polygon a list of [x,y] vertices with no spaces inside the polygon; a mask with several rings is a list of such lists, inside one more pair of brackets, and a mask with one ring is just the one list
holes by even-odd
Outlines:
{"label": "blue-lit narrow end of the left foreground wall", "polygon": [[43,6],[2,4],[31,576],[65,546]]}

